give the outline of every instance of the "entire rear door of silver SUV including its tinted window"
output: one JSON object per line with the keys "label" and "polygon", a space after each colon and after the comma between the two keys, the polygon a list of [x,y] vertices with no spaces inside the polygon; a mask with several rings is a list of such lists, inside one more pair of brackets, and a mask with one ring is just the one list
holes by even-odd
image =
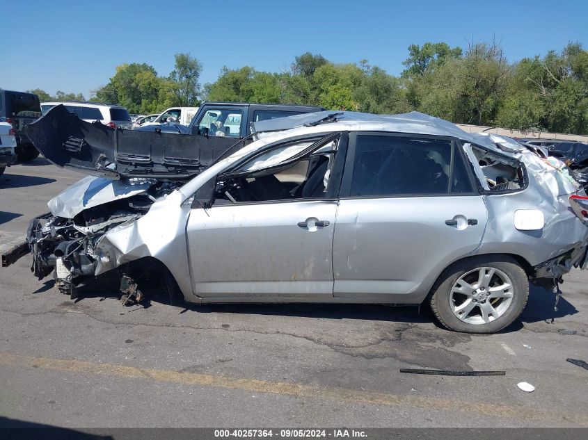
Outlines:
{"label": "entire rear door of silver SUV including its tinted window", "polygon": [[355,133],[333,241],[334,295],[420,302],[482,241],[486,207],[450,138]]}

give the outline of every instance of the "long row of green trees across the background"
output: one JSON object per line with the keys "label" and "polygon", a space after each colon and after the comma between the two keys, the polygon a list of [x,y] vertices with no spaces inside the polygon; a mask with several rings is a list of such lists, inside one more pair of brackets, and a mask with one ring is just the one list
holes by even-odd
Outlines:
{"label": "long row of green trees across the background", "polygon": [[[197,106],[202,100],[245,101],[385,114],[420,111],[461,124],[588,134],[588,51],[580,43],[509,63],[499,44],[461,49],[427,42],[411,44],[403,65],[402,74],[393,76],[367,60],[337,64],[307,52],[286,72],[223,67],[214,83],[202,86],[202,63],[176,54],[168,76],[145,63],[116,67],[91,99],[121,104],[131,113]],[[47,95],[33,91],[42,100]]]}

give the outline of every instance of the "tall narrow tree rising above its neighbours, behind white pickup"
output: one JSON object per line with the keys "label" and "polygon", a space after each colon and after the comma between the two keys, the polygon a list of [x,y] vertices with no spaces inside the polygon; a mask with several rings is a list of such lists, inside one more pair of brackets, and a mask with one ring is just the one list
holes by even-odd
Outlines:
{"label": "tall narrow tree rising above its neighbours, behind white pickup", "polygon": [[190,54],[175,54],[175,67],[169,79],[175,83],[173,93],[178,106],[198,106],[202,64]]}

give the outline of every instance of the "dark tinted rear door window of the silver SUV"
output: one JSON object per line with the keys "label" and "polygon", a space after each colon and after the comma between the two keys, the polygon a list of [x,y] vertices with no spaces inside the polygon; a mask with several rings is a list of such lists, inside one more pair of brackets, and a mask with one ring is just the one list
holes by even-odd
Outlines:
{"label": "dark tinted rear door window of the silver SUV", "polygon": [[351,197],[472,193],[463,158],[451,140],[369,135],[356,139]]}

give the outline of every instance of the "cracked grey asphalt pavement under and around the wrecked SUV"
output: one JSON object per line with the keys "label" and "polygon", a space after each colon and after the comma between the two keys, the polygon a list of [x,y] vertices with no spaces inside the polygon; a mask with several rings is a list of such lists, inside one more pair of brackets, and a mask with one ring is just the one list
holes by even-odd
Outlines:
{"label": "cracked grey asphalt pavement under and around the wrecked SUV", "polygon": [[[43,158],[8,168],[0,177],[0,244],[79,178]],[[532,287],[513,326],[471,336],[440,328],[426,307],[186,308],[170,306],[166,295],[146,308],[122,307],[112,291],[74,302],[29,267],[24,257],[0,269],[0,425],[588,425],[588,370],[565,360],[588,361],[588,272],[564,277],[559,311],[552,293]],[[399,368],[506,375],[407,375]],[[536,391],[517,389],[523,381]]]}

